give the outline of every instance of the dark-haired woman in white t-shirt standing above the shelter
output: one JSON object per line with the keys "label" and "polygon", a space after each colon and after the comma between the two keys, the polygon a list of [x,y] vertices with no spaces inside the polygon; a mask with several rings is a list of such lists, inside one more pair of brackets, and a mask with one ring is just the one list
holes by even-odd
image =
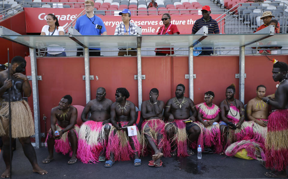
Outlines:
{"label": "dark-haired woman in white t-shirt standing above the shelter", "polygon": [[[48,14],[46,16],[46,22],[48,25],[44,25],[41,30],[41,36],[64,36],[64,28],[59,26],[57,17],[54,14]],[[57,51],[57,52],[52,52]],[[65,48],[59,45],[49,45],[47,48],[47,56],[66,56]]]}

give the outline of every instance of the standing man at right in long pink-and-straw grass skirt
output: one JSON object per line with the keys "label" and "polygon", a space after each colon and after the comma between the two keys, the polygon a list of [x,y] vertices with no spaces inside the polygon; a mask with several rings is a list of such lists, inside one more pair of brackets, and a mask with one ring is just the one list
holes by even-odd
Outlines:
{"label": "standing man at right in long pink-and-straw grass skirt", "polygon": [[272,113],[268,117],[267,137],[265,140],[266,161],[262,164],[274,171],[264,175],[272,178],[287,178],[288,165],[288,65],[277,62],[273,65],[272,78],[276,85],[275,99],[263,97],[262,100],[272,106]]}

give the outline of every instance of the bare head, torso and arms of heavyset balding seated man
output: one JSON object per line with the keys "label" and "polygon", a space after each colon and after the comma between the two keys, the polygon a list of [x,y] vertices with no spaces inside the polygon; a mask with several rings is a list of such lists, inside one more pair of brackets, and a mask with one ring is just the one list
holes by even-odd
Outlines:
{"label": "bare head, torso and arms of heavyset balding seated man", "polygon": [[89,101],[83,112],[81,114],[81,119],[83,122],[86,122],[86,116],[90,111],[91,117],[90,120],[100,122],[103,121],[103,125],[110,122],[110,106],[112,101],[105,98],[106,91],[104,88],[98,88],[96,92],[96,99]]}

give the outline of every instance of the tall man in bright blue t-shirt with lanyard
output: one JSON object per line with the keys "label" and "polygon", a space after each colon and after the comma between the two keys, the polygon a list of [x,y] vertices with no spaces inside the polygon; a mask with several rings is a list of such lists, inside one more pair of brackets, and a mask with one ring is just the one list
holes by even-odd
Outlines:
{"label": "tall man in bright blue t-shirt with lanyard", "polygon": [[[93,13],[94,2],[87,0],[84,7],[86,14],[76,20],[75,29],[82,35],[101,35],[101,33],[107,35],[102,19]],[[77,48],[77,51],[82,50],[82,48]],[[83,51],[77,52],[77,56],[80,55],[83,55]],[[89,48],[89,56],[100,56],[100,48]]]}

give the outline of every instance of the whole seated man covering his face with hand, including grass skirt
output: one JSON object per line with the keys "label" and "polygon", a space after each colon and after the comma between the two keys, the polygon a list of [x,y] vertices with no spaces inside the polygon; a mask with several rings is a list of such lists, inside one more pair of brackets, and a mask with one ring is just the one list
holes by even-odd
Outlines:
{"label": "whole seated man covering his face with hand, including grass skirt", "polygon": [[149,93],[149,100],[143,101],[141,105],[141,116],[145,119],[141,126],[141,137],[144,146],[143,150],[146,149],[148,142],[149,146],[155,152],[155,155],[152,156],[153,160],[150,160],[148,165],[155,167],[162,166],[162,149],[168,142],[166,132],[164,131],[165,123],[162,114],[164,102],[160,100],[158,101],[158,96],[158,89],[152,88]]}

